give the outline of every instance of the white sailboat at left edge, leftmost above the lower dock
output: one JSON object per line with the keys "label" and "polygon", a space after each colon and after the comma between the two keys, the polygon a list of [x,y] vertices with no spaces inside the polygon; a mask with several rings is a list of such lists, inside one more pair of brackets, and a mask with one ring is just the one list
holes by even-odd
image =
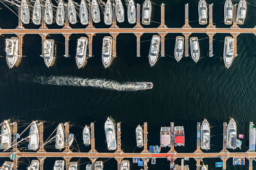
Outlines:
{"label": "white sailboat at left edge, leftmost above the lower dock", "polygon": [[12,129],[8,120],[4,120],[1,135],[0,135],[0,149],[7,149],[11,146]]}

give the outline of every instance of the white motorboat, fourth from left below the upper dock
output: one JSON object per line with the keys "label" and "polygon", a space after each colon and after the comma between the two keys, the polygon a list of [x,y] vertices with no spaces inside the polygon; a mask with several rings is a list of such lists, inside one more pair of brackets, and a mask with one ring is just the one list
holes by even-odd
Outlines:
{"label": "white motorboat, fourth from left below the upper dock", "polygon": [[102,44],[102,62],[105,68],[110,66],[112,61],[112,37],[105,36]]}

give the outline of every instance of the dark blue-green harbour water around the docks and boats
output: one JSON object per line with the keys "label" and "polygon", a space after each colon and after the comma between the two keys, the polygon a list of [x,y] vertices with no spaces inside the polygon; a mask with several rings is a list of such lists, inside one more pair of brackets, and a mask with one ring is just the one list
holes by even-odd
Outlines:
{"label": "dark blue-green harbour water around the docks and boats", "polygon": [[[79,2],[79,0],[75,0]],[[185,24],[185,4],[189,3],[189,20],[192,27],[199,26],[197,16],[197,0],[152,0],[152,21],[150,27],[158,27],[160,22],[160,4],[165,3],[166,25],[168,27],[182,27]],[[216,27],[225,26],[223,22],[224,0],[206,0],[213,5],[213,22]],[[256,5],[254,0],[248,3]],[[56,3],[56,2],[53,2]],[[124,3],[124,1],[123,1]],[[142,0],[135,3],[142,4]],[[233,1],[238,3],[238,1]],[[18,17],[8,8],[0,4],[0,27],[15,28]],[[142,8],[142,7],[141,7]],[[16,11],[16,9],[12,8]],[[126,8],[125,8],[126,10]],[[240,27],[253,28],[256,25],[256,8],[247,4],[247,18]],[[102,16],[101,16],[102,17]],[[96,27],[106,27],[104,23],[95,24]],[[133,27],[127,21],[118,24],[119,27]],[[26,28],[38,28],[33,24]],[[56,28],[56,24],[49,28]],[[73,28],[85,27],[79,24]],[[146,27],[146,26],[145,26]],[[75,64],[75,50],[79,34],[70,37],[70,57],[64,55],[64,36],[50,34],[47,38],[57,42],[56,62],[52,68],[46,68],[41,55],[41,37],[39,35],[25,35],[22,61],[18,68],[9,69],[5,57],[0,59],[0,120],[20,120],[19,132],[24,130],[32,120],[39,119],[44,123],[44,140],[51,135],[53,129],[60,122],[70,121],[73,125],[70,131],[74,133],[81,152],[88,152],[89,148],[83,146],[82,128],[90,122],[95,122],[96,148],[98,152],[106,152],[104,122],[107,116],[112,116],[116,122],[121,121],[122,148],[124,152],[133,152],[135,142],[135,128],[140,123],[148,122],[148,144],[159,144],[160,126],[169,126],[171,121],[185,128],[185,147],[177,147],[177,152],[194,152],[196,149],[196,122],[203,118],[208,119],[211,128],[211,150],[220,152],[222,146],[222,123],[229,117],[237,122],[238,133],[246,137],[241,139],[242,149],[248,149],[247,127],[249,121],[256,121],[256,37],[253,34],[240,34],[238,36],[238,57],[231,68],[226,69],[221,59],[223,40],[230,34],[215,34],[213,41],[214,56],[209,58],[208,39],[206,34],[191,34],[198,36],[201,56],[206,56],[195,64],[189,57],[184,57],[179,63],[172,57],[162,57],[156,66],[150,67],[148,62],[150,40],[153,34],[141,36],[141,56],[136,57],[136,36],[133,34],[119,34],[117,36],[117,57],[110,68],[104,68],[101,62],[102,38],[108,34],[97,34],[93,37],[93,58],[83,69],[77,69]],[[165,53],[174,56],[175,37],[181,34],[168,34],[166,36]],[[0,36],[0,55],[5,56],[5,38],[13,35]],[[143,42],[146,41],[146,42]],[[94,87],[72,85],[43,85],[34,83],[40,76],[70,76],[89,79],[108,79],[123,82],[153,82],[154,87],[145,91],[113,91]],[[76,82],[71,82],[76,83]],[[62,83],[61,83],[62,84]],[[80,126],[80,127],[79,127]],[[26,136],[27,134],[24,134]],[[53,150],[53,144],[47,145],[47,151]],[[26,147],[26,145],[22,145]],[[77,146],[74,146],[78,148]],[[73,148],[73,152],[76,150]],[[136,148],[135,152],[141,152]],[[233,152],[233,151],[230,151]],[[60,158],[62,159],[62,158]],[[7,158],[1,158],[0,164]],[[29,159],[30,161],[32,159]],[[53,169],[56,158],[45,160],[45,169]],[[72,159],[79,164],[88,162],[87,158]],[[107,159],[98,159],[106,161]],[[19,159],[19,169],[24,170],[28,159]],[[179,163],[177,159],[176,163]],[[214,169],[214,162],[220,159],[203,159]],[[132,162],[132,160],[130,160]],[[191,170],[195,170],[195,161],[186,161]],[[234,168],[232,159],[227,162],[227,170],[244,169],[246,166]],[[85,169],[81,164],[79,170]],[[256,163],[254,162],[254,166]],[[117,169],[114,159],[104,163],[106,170]],[[149,170],[168,170],[169,161],[158,159],[157,165],[149,165]],[[140,170],[136,164],[131,164],[132,170]]]}

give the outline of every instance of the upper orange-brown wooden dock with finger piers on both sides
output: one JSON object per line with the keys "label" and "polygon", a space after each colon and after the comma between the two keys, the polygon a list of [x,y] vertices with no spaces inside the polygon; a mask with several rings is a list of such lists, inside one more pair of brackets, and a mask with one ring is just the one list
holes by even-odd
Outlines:
{"label": "upper orange-brown wooden dock with finger piers on both sides", "polygon": [[[71,34],[87,34],[88,35],[88,56],[92,57],[92,41],[95,34],[111,34],[113,37],[113,56],[116,57],[116,37],[118,34],[135,34],[137,37],[137,57],[140,57],[141,35],[145,33],[155,33],[161,36],[161,57],[165,56],[165,36],[169,33],[181,33],[185,36],[185,56],[189,56],[189,35],[192,33],[204,33],[209,36],[209,57],[213,56],[213,36],[216,33],[229,33],[234,38],[234,56],[237,56],[237,36],[243,34],[256,35],[256,26],[254,28],[239,28],[236,23],[236,5],[233,10],[233,25],[230,28],[216,28],[212,21],[212,5],[209,5],[209,25],[206,28],[192,28],[189,26],[188,4],[185,4],[185,25],[182,28],[168,28],[165,25],[165,5],[161,4],[161,23],[157,28],[143,28],[140,20],[140,4],[137,4],[136,25],[133,28],[119,28],[116,26],[115,12],[113,15],[113,24],[109,28],[95,28],[93,26],[91,12],[89,9],[89,22],[86,28],[71,28],[69,25],[68,15],[66,12],[65,26],[62,29],[48,29],[44,23],[42,16],[42,26],[39,29],[26,29],[21,22],[21,8],[18,10],[18,27],[16,29],[0,29],[1,34],[16,34],[19,38],[19,56],[22,56],[22,43],[25,34],[39,34],[42,41],[46,39],[48,34],[62,34],[65,37],[65,57],[69,57],[69,36]],[[66,8],[67,10],[67,8]],[[115,8],[114,8],[115,10]],[[43,11],[44,12],[44,11]]]}

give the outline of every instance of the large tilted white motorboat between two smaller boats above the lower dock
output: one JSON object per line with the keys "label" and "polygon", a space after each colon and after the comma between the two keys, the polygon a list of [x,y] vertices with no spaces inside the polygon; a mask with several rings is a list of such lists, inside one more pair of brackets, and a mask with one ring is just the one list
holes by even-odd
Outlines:
{"label": "large tilted white motorboat between two smaller boats above the lower dock", "polygon": [[105,122],[105,134],[107,149],[110,151],[116,150],[116,139],[115,139],[115,126],[112,120],[107,118]]}

